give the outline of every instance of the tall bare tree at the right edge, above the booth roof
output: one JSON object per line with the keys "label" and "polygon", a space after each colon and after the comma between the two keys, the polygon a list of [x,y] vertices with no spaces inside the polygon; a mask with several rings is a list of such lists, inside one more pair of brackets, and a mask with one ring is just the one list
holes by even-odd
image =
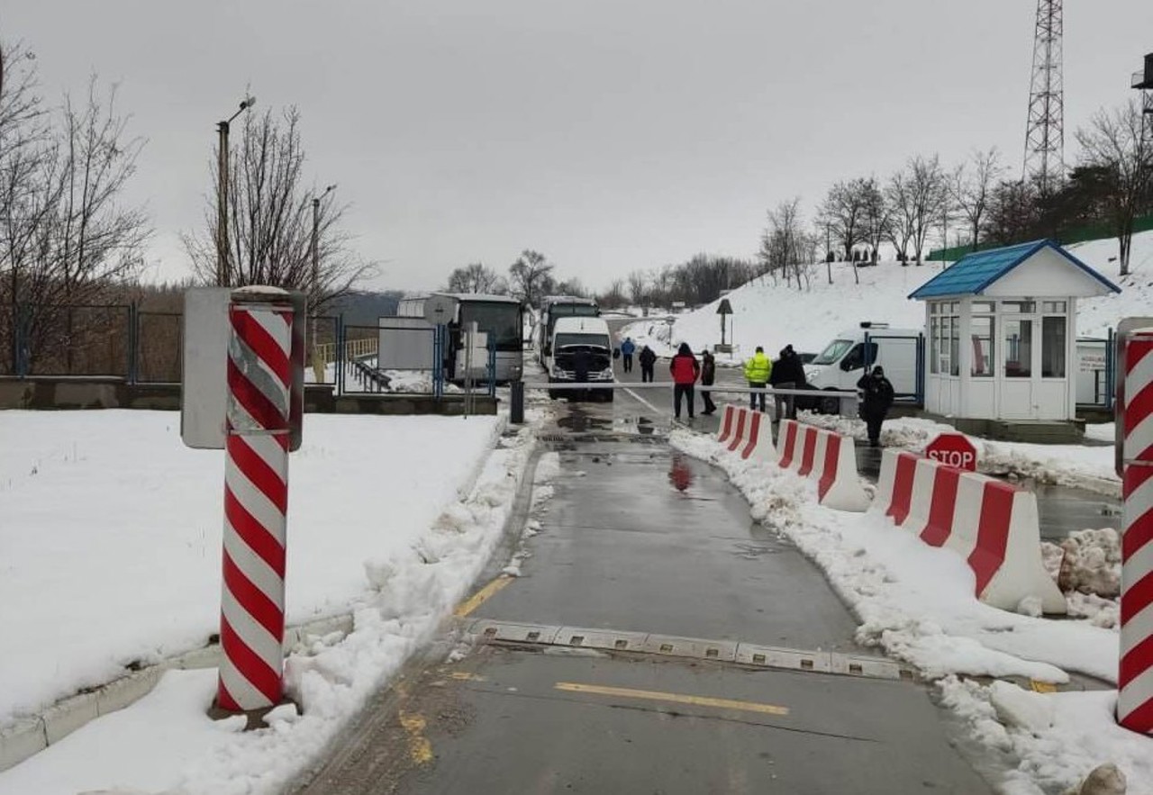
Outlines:
{"label": "tall bare tree at the right edge, above the booth roof", "polygon": [[1107,214],[1123,277],[1129,274],[1133,220],[1153,199],[1153,152],[1146,151],[1143,124],[1140,104],[1130,100],[1111,112],[1098,111],[1087,128],[1077,130],[1083,164],[1106,176]]}

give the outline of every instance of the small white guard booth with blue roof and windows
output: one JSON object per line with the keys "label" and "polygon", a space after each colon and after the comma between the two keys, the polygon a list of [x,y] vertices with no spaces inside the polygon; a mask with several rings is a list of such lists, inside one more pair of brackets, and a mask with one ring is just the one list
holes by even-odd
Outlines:
{"label": "small white guard booth with blue roof and windows", "polygon": [[925,410],[1073,419],[1077,300],[1120,292],[1050,240],[957,260],[909,296],[925,302]]}

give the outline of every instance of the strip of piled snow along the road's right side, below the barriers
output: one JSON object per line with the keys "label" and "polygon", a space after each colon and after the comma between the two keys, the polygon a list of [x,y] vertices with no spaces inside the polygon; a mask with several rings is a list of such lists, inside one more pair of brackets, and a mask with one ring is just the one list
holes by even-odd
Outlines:
{"label": "strip of piled snow along the road's right side, below the barriers", "polygon": [[822,508],[813,482],[743,461],[709,437],[676,430],[671,441],[724,469],[753,517],[824,570],[857,615],[858,642],[937,680],[943,702],[975,741],[1019,759],[1000,782],[1003,792],[1061,793],[1097,765],[1114,762],[1129,779],[1130,795],[1153,793],[1153,739],[1116,726],[1115,690],[1034,694],[1004,681],[972,680],[1061,686],[1069,672],[1078,672],[1115,683],[1118,638],[1110,622],[1094,620],[1099,610],[1075,612],[1091,618],[1054,621],[988,607],[973,597],[973,574],[960,558],[922,544],[880,512]]}

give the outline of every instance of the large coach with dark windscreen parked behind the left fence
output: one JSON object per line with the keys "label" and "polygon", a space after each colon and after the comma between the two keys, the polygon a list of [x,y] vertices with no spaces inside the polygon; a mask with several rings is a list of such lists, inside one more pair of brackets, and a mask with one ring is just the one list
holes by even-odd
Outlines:
{"label": "large coach with dark windscreen parked behind the left fence", "polygon": [[[445,351],[445,377],[452,381],[465,380],[465,330],[475,321],[477,331],[488,335],[496,348],[496,380],[519,381],[525,372],[523,346],[521,342],[525,323],[525,306],[507,295],[482,295],[472,293],[436,293],[454,301],[454,311],[449,320],[449,346]],[[397,308],[398,317],[424,317],[424,302],[429,295],[401,298]],[[482,377],[485,363],[474,363],[473,376]]]}

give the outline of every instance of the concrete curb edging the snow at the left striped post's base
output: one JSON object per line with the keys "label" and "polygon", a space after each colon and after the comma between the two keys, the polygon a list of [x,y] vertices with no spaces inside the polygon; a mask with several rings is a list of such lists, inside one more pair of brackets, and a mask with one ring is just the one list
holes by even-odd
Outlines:
{"label": "concrete curb edging the snow at the left striped post's base", "polygon": [[[285,629],[286,656],[309,637],[323,637],[332,633],[348,635],[352,630],[352,613],[288,627]],[[90,691],[61,699],[38,716],[17,718],[15,722],[0,728],[0,771],[14,767],[60,742],[89,721],[136,703],[152,691],[167,671],[214,668],[219,662],[219,644],[194,649]]]}

